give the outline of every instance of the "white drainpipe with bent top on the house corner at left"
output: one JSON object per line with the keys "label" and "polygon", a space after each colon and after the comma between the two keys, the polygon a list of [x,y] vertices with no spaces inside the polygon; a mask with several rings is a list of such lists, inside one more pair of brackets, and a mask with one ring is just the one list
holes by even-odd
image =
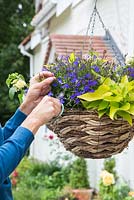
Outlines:
{"label": "white drainpipe with bent top on the house corner at left", "polygon": [[25,50],[24,46],[21,44],[19,45],[20,52],[22,55],[29,57],[30,59],[30,78],[33,77],[33,55]]}

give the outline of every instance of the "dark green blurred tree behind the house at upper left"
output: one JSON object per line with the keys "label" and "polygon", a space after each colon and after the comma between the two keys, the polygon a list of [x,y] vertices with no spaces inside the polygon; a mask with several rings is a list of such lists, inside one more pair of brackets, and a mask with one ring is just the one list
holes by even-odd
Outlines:
{"label": "dark green blurred tree behind the house at upper left", "polygon": [[29,59],[20,54],[18,45],[32,31],[34,2],[0,0],[0,8],[0,122],[4,124],[18,107],[8,97],[8,74],[16,71],[29,78]]}

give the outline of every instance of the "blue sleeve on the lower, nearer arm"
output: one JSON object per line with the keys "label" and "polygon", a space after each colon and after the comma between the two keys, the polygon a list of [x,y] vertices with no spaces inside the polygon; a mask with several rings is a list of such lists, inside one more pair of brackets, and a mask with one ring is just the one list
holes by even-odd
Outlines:
{"label": "blue sleeve on the lower, nearer arm", "polygon": [[33,139],[34,135],[32,132],[20,126],[0,146],[0,184],[17,167]]}

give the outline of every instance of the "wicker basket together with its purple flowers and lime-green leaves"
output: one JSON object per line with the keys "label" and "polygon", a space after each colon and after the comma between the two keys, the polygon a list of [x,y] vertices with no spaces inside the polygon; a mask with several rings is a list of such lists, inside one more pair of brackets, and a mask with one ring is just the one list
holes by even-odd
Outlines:
{"label": "wicker basket together with its purple flowers and lime-green leaves", "polygon": [[50,95],[65,106],[63,116],[48,126],[67,150],[106,158],[127,147],[133,137],[133,67],[117,65],[96,52],[60,56],[44,67],[57,77]]}

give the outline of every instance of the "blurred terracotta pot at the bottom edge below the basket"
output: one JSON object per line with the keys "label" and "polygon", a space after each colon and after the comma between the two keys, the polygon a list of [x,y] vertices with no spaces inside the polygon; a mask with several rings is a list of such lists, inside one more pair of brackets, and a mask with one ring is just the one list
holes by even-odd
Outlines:
{"label": "blurred terracotta pot at the bottom edge below the basket", "polygon": [[93,190],[92,189],[74,189],[72,190],[72,193],[78,200],[91,200]]}

